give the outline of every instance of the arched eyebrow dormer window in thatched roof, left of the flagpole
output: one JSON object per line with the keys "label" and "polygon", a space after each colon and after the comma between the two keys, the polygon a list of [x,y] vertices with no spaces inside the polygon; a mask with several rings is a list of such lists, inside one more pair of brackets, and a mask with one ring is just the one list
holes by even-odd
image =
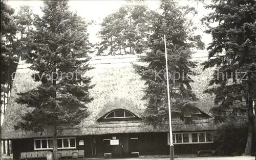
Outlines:
{"label": "arched eyebrow dormer window in thatched roof, left of the flagpole", "polygon": [[133,114],[130,111],[123,110],[123,109],[118,109],[118,110],[113,110],[101,118],[99,118],[99,121],[121,121],[121,120],[138,120],[140,119],[138,116]]}

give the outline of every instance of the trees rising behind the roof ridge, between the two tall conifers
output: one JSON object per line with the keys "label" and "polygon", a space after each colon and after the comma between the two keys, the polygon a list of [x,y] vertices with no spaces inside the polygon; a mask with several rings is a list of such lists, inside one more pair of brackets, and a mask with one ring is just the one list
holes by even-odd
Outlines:
{"label": "trees rising behind the roof ridge, between the two tall conifers", "polygon": [[98,35],[98,55],[141,54],[146,34],[147,7],[141,2],[127,2],[106,16]]}

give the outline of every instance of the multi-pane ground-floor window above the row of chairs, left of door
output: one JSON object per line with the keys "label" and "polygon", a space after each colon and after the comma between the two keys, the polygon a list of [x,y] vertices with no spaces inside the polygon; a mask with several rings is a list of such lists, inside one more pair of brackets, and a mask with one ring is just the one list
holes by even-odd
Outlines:
{"label": "multi-pane ground-floor window above the row of chairs, left of door", "polygon": [[[75,138],[58,138],[57,147],[58,149],[76,148],[76,140]],[[34,140],[35,150],[52,149],[52,148],[53,148],[52,139],[35,139]]]}

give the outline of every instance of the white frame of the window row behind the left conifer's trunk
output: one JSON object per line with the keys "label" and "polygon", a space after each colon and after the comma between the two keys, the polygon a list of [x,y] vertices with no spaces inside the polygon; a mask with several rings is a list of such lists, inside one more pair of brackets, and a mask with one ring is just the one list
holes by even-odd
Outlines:
{"label": "white frame of the window row behind the left conifer's trunk", "polygon": [[[58,147],[58,149],[76,149],[76,138],[75,137],[63,137],[63,138],[57,138],[57,140],[61,139],[62,147]],[[69,147],[63,147],[63,139],[68,139]],[[75,147],[70,147],[70,139],[75,139]],[[40,148],[36,148],[35,141],[40,140]],[[42,140],[47,140],[47,148],[42,148]],[[34,150],[49,150],[53,148],[49,148],[49,140],[53,140],[52,138],[44,138],[44,139],[34,139]]]}

